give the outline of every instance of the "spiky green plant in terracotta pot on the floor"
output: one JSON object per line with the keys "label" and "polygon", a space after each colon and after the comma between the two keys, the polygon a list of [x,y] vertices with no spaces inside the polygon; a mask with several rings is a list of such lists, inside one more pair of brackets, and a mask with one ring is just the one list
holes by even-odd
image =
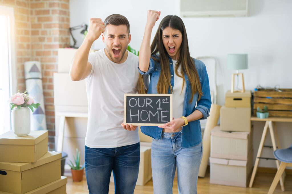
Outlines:
{"label": "spiky green plant in terracotta pot on the floor", "polygon": [[84,166],[80,166],[80,152],[78,151],[78,148],[76,148],[76,157],[74,157],[74,163],[70,160],[70,164],[67,163],[71,167],[71,173],[72,173],[72,179],[73,181],[82,181],[83,180],[83,172],[84,172]]}

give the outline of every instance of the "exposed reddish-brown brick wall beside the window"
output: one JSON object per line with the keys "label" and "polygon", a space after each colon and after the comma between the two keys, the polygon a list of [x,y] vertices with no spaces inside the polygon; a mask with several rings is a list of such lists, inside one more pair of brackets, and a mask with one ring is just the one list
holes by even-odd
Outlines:
{"label": "exposed reddish-brown brick wall beside the window", "polygon": [[58,48],[69,45],[69,0],[0,0],[0,5],[14,8],[18,90],[25,90],[24,62],[37,60],[42,64],[49,148],[53,150],[53,73],[57,72]]}

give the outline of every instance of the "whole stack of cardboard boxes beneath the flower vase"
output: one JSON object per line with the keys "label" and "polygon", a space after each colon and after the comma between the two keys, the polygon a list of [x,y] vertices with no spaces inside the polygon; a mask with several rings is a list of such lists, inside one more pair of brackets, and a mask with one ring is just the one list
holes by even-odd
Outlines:
{"label": "whole stack of cardboard boxes beneath the flower vase", "polygon": [[48,131],[0,136],[0,194],[65,194],[61,153],[48,152]]}

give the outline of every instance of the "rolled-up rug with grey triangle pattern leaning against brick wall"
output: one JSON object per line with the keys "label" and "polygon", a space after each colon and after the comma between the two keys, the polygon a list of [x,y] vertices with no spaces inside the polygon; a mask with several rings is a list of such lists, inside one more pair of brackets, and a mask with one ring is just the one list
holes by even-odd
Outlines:
{"label": "rolled-up rug with grey triangle pattern leaning against brick wall", "polygon": [[39,61],[25,62],[24,73],[28,94],[34,97],[35,103],[41,104],[34,113],[30,111],[31,130],[47,130],[41,63]]}

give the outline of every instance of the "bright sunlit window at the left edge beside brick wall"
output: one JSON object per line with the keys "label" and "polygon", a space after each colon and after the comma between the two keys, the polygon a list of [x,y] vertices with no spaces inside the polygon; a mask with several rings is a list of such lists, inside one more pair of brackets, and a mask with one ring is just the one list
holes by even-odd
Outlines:
{"label": "bright sunlit window at the left edge beside brick wall", "polygon": [[[13,8],[0,6],[0,134],[11,130],[11,111],[8,99],[12,92],[12,64],[11,60],[11,43],[14,41],[13,25]],[[14,82],[16,84],[16,82]]]}

